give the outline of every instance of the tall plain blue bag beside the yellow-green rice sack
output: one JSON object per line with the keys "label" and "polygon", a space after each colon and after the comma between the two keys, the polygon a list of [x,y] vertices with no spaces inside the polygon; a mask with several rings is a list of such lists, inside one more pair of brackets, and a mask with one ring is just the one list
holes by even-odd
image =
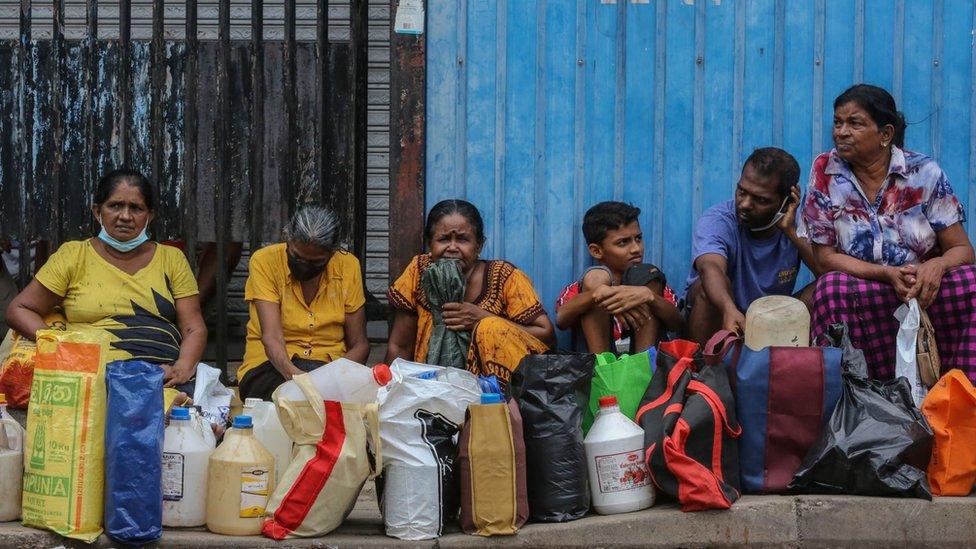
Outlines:
{"label": "tall plain blue bag beside the yellow-green rice sack", "polygon": [[163,536],[163,369],[141,360],[105,369],[105,531],[123,543]]}

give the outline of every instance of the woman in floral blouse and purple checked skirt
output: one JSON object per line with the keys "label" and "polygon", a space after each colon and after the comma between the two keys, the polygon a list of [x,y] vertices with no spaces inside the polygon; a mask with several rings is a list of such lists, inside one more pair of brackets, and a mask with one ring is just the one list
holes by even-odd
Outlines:
{"label": "woman in floral blouse and purple checked skirt", "polygon": [[942,370],[976,381],[976,267],[965,210],[936,162],[904,150],[905,120],[882,88],[834,101],[835,148],[813,161],[803,219],[822,271],[812,326],[846,322],[872,377],[891,379],[901,303],[935,328]]}

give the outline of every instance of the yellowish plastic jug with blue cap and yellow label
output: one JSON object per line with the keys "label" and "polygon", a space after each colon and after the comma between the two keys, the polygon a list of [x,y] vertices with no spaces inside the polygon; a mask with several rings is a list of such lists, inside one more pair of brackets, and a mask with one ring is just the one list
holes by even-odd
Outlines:
{"label": "yellowish plastic jug with blue cap and yellow label", "polygon": [[254,438],[251,416],[235,417],[224,442],[210,454],[207,529],[229,536],[260,534],[274,488],[274,456]]}

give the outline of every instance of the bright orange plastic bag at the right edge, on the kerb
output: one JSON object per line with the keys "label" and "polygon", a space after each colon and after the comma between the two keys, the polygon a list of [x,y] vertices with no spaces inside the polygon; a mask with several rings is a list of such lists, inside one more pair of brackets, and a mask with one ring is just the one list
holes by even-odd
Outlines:
{"label": "bright orange plastic bag at the right edge, on the kerb", "polygon": [[950,370],[929,391],[922,413],[935,433],[928,477],[936,496],[968,496],[976,483],[976,388]]}

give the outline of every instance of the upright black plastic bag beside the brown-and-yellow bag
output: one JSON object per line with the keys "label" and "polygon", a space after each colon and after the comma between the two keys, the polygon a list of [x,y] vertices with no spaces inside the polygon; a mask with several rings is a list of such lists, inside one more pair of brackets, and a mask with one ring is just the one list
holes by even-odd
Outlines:
{"label": "upright black plastic bag beside the brown-and-yellow bag", "polygon": [[591,354],[529,355],[512,374],[533,520],[576,520],[590,509],[582,423],[593,360]]}

